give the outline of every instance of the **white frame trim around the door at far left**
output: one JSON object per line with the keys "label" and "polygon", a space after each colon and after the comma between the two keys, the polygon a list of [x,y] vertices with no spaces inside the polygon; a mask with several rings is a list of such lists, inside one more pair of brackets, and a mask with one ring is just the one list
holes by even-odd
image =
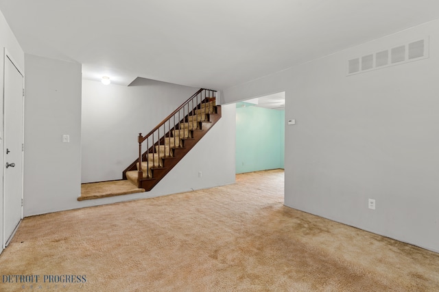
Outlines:
{"label": "white frame trim around the door at far left", "polygon": [[[24,127],[25,127],[25,75],[24,75],[24,70],[22,70],[20,68],[20,66],[18,65],[17,62],[15,62],[14,57],[12,57],[12,55],[9,53],[8,49],[6,49],[6,47],[3,47],[3,88],[2,88],[2,100],[1,102],[3,103],[3,112],[2,112],[2,120],[1,120],[1,131],[3,133],[3,143],[1,146],[1,150],[3,150],[3,175],[1,177],[1,180],[3,182],[3,189],[1,189],[1,193],[2,193],[2,200],[3,200],[3,226],[1,226],[2,228],[2,235],[1,235],[1,249],[4,250],[10,243],[12,237],[14,237],[14,234],[16,233],[16,230],[18,229],[19,225],[21,224],[21,220],[23,220],[23,204],[21,204],[21,220],[19,222],[19,224],[16,226],[16,228],[14,229],[14,231],[12,232],[12,235],[8,236],[8,238],[6,238],[5,235],[5,159],[6,159],[6,155],[5,155],[5,73],[6,73],[6,62],[9,61],[12,63],[12,65],[14,65],[14,67],[16,68],[16,70],[19,71],[20,75],[23,77],[23,108],[21,109],[21,117],[22,117],[22,124],[21,124],[21,143],[23,144],[23,150],[21,151],[21,202],[23,202],[23,187],[24,187]],[[1,253],[1,250],[0,250]]]}

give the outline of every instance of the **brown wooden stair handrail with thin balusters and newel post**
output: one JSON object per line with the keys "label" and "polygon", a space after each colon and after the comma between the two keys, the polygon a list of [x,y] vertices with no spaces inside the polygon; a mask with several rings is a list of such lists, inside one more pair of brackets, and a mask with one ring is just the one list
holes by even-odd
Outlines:
{"label": "brown wooden stair handrail with thin balusters and newel post", "polygon": [[[214,98],[216,94],[215,90],[206,90],[201,88],[198,92],[195,92],[193,96],[191,96],[185,103],[180,105],[175,111],[172,112],[167,118],[165,118],[161,123],[159,123],[150,133],[143,136],[142,133],[139,133],[138,142],[139,142],[139,165],[137,167],[138,170],[138,178],[137,182],[140,186],[141,178],[151,178],[150,176],[150,154],[152,156],[152,168],[161,166],[161,153],[163,153],[164,157],[171,157],[171,142],[174,147],[182,147],[181,138],[182,138],[182,127],[181,124],[183,122],[188,122],[187,128],[183,128],[183,137],[187,137],[186,131],[190,133],[191,129],[195,129],[199,121],[201,121],[202,112],[209,109],[209,106],[206,107],[206,103],[211,101],[211,98]],[[202,111],[196,112],[196,109],[202,109]],[[195,114],[197,113],[197,114]],[[204,114],[208,114],[205,112]],[[189,116],[192,116],[189,122]],[[195,117],[196,116],[196,117]],[[191,124],[191,127],[189,127]],[[178,137],[176,137],[176,131],[178,130]],[[174,131],[174,137],[171,137],[172,131]],[[142,155],[142,144],[146,141],[146,152]],[[163,152],[161,150],[161,142],[163,142]],[[178,145],[176,143],[178,142]],[[150,147],[150,145],[152,147]],[[158,147],[156,147],[158,146]],[[157,152],[156,152],[157,150]],[[142,157],[145,156],[146,159],[146,176],[143,176],[142,170]],[[156,159],[157,157],[157,159]],[[156,163],[157,160],[157,163]]]}

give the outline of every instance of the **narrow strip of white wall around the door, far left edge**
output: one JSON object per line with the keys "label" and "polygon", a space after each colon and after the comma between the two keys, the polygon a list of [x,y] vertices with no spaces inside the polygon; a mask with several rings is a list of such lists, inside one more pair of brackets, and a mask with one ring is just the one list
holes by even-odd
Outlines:
{"label": "narrow strip of white wall around the door, far left edge", "polygon": [[[12,55],[14,62],[24,70],[25,68],[25,57],[23,53],[23,49],[21,49],[19,42],[17,42],[12,30],[10,29],[8,23],[6,23],[3,14],[0,12],[0,88],[3,88],[3,66],[4,66],[4,55],[3,48],[8,50],[8,53]],[[2,94],[2,102],[0,103],[0,165],[5,165],[4,161],[4,149],[3,149],[3,94]],[[0,242],[3,243],[3,170],[4,167],[0,168]],[[3,250],[0,245],[0,253]]]}

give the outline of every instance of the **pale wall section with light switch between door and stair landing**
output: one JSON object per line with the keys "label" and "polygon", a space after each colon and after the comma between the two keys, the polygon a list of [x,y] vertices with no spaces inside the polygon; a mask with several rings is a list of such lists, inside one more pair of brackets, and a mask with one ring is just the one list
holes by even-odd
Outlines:
{"label": "pale wall section with light switch between door and stair landing", "polygon": [[80,194],[81,65],[27,54],[25,62],[27,216],[68,209]]}

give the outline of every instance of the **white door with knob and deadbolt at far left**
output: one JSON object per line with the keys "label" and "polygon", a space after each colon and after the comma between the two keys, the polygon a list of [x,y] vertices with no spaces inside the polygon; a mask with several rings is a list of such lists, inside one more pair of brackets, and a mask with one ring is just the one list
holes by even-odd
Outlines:
{"label": "white door with knob and deadbolt at far left", "polygon": [[23,217],[23,75],[5,54],[3,243],[8,245]]}

